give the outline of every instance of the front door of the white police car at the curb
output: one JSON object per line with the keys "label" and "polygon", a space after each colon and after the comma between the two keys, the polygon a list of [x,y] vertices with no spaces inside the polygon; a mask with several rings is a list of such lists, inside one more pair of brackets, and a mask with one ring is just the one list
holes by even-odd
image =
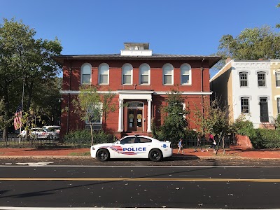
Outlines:
{"label": "front door of the white police car at the curb", "polygon": [[137,158],[137,154],[134,151],[135,137],[125,137],[120,140],[120,146],[123,151],[119,153],[119,158]]}

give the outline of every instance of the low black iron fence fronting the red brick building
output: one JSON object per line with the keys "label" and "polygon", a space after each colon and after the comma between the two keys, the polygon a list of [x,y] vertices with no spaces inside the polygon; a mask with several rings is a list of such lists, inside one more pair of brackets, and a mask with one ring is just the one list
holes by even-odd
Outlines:
{"label": "low black iron fence fronting the red brick building", "polygon": [[[216,139],[218,146],[218,139]],[[99,144],[97,139],[94,139],[94,144]],[[232,139],[230,137],[225,138],[225,148],[229,148],[232,144]],[[64,139],[20,139],[18,137],[8,137],[8,139],[0,139],[0,148],[46,148],[46,147],[56,147],[56,148],[90,148],[91,141],[88,140],[67,140]],[[201,139],[200,145],[202,148],[207,148],[211,146],[211,142],[207,139]],[[195,148],[197,146],[197,139],[188,138],[183,140],[183,148]],[[220,147],[223,146],[222,141],[220,142]],[[173,148],[177,148],[177,142],[172,144]]]}

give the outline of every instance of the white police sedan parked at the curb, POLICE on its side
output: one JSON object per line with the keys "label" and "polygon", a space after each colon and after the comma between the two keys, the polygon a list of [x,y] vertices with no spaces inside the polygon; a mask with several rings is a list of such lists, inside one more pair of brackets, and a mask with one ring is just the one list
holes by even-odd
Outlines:
{"label": "white police sedan parked at the curb, POLICE on its side", "polygon": [[149,158],[160,161],[172,156],[170,141],[159,141],[146,136],[127,136],[115,143],[104,143],[91,146],[90,155],[99,161],[110,158]]}

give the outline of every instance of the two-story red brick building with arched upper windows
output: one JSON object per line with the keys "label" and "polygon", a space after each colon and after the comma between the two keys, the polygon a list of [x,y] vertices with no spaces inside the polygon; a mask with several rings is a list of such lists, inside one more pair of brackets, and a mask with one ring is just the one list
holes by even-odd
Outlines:
{"label": "two-story red brick building with arched upper windows", "polygon": [[[149,43],[125,43],[125,50],[113,55],[62,55],[53,59],[63,66],[61,134],[88,129],[73,112],[71,101],[81,84],[99,85],[100,92],[116,93],[118,109],[109,114],[104,125],[100,119],[94,129],[112,132],[116,137],[127,133],[151,134],[152,120],[163,122],[160,106],[165,105],[167,92],[179,87],[186,97],[183,106],[190,109],[186,118],[190,128],[191,110],[209,99],[209,69],[220,57],[197,55],[154,55]],[[125,106],[123,106],[125,104]]]}

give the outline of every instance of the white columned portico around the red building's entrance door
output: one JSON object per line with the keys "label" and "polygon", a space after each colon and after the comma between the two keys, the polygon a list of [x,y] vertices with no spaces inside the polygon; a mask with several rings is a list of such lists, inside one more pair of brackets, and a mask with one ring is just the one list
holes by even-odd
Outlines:
{"label": "white columned portico around the red building's entrance door", "polygon": [[124,100],[147,100],[147,132],[151,132],[151,120],[152,120],[152,94],[151,90],[118,90],[119,94],[119,110],[118,110],[118,132],[123,132],[124,122]]}

